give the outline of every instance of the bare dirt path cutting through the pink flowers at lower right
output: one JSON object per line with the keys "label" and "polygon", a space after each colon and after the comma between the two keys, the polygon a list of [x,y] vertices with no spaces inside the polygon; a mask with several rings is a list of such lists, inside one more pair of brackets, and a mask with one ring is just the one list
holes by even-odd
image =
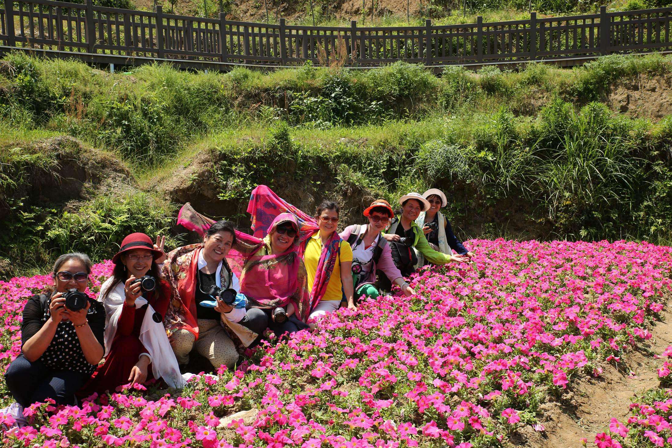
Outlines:
{"label": "bare dirt path cutting through the pink flowers at lower right", "polygon": [[581,448],[585,437],[589,447],[594,447],[595,433],[607,431],[612,417],[625,420],[628,404],[636,395],[658,386],[657,368],[662,359],[654,354],[662,353],[672,344],[672,310],[663,312],[663,322],[651,329],[653,338],[638,351],[629,353],[618,369],[613,365],[604,367],[597,379],[582,379],[562,396],[560,402],[542,406],[546,427],[537,433],[531,427],[521,431],[520,437],[512,440],[513,446],[534,448]]}

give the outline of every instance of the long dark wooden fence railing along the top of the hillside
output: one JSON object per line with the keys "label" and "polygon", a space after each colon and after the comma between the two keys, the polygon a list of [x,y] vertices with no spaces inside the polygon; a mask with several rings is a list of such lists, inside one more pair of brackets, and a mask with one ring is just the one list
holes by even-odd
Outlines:
{"label": "long dark wooden fence railing along the top of the hillside", "polygon": [[206,64],[296,65],[306,60],[427,66],[577,59],[612,52],[672,50],[672,7],[476,24],[288,26],[114,9],[52,0],[4,0],[0,52],[23,48],[93,62],[148,59]]}

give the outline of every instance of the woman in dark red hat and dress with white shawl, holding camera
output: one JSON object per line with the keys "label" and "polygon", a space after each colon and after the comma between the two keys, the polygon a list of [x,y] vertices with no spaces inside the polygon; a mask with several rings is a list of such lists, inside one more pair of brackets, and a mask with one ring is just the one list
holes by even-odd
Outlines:
{"label": "woman in dark red hat and dress with white shawl, holding camera", "polygon": [[[171,290],[161,278],[163,242],[144,233],[122,241],[114,255],[114,269],[100,288],[98,300],[106,310],[105,363],[99,365],[80,396],[114,392],[124,384],[162,378],[169,386],[183,385],[177,360],[168,341],[163,316]],[[151,367],[151,369],[150,369]]]}

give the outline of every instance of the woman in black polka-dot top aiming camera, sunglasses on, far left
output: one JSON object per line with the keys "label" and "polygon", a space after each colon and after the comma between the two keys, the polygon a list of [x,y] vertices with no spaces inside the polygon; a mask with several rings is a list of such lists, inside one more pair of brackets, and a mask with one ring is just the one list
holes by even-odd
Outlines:
{"label": "woman in black polka-dot top aiming camera, sunglasses on, far left", "polygon": [[56,259],[54,287],[26,302],[22,353],[7,368],[7,389],[20,406],[52,398],[75,404],[103,357],[105,309],[85,294],[91,260],[82,253]]}

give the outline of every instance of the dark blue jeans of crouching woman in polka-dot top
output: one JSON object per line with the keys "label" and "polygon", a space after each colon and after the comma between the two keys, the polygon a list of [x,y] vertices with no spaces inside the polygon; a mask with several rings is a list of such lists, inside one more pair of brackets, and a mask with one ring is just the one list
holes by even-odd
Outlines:
{"label": "dark blue jeans of crouching woman in polka-dot top", "polygon": [[53,398],[56,404],[75,404],[75,392],[90,375],[72,370],[52,370],[39,359],[30,362],[19,355],[5,372],[7,389],[24,408]]}

